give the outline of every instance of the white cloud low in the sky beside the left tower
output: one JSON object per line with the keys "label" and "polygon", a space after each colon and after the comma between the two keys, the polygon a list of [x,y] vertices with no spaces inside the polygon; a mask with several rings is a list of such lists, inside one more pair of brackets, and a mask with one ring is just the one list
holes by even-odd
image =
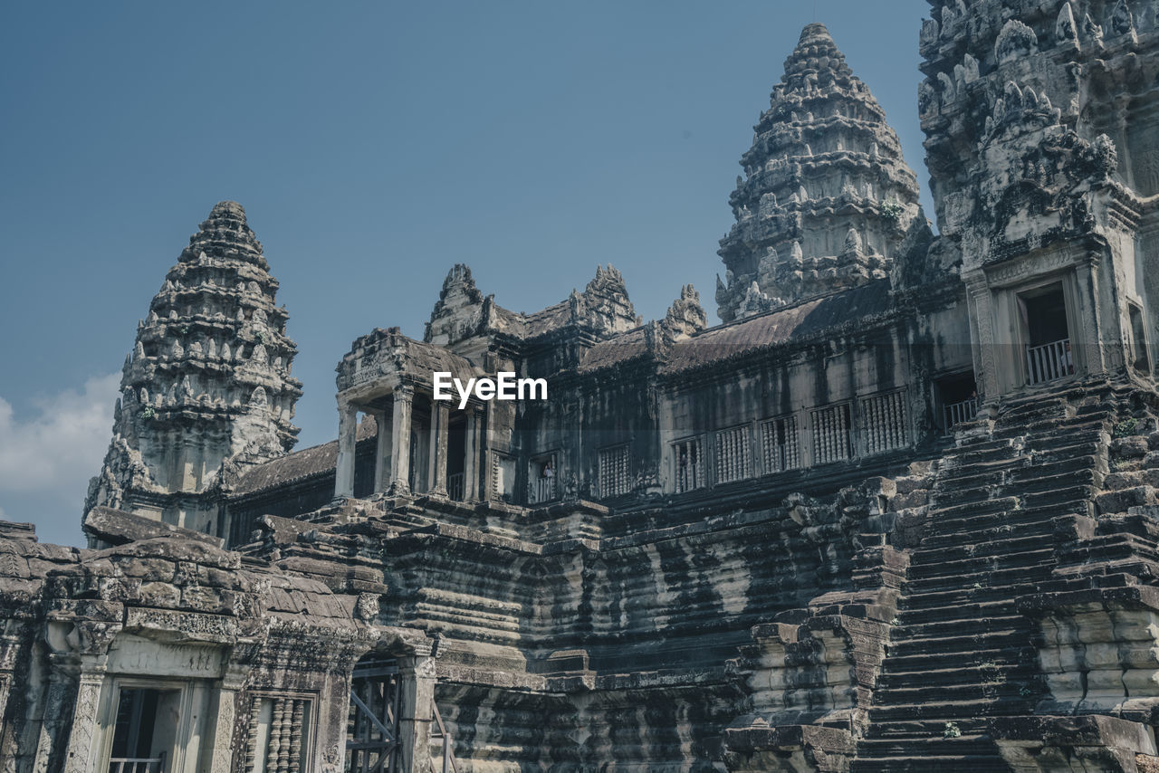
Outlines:
{"label": "white cloud low in the sky beside the left tower", "polygon": [[0,495],[35,495],[53,509],[68,502],[79,513],[112,435],[119,381],[119,373],[90,378],[80,392],[36,400],[35,413],[22,416],[0,396]]}

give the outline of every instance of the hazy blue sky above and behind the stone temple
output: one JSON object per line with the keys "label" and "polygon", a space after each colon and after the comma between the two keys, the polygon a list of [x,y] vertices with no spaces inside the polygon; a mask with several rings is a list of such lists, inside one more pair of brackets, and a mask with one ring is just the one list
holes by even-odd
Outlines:
{"label": "hazy blue sky above and behind the stone temple", "polygon": [[420,337],[447,269],[534,311],[613,263],[693,283],[801,28],[825,22],[918,170],[923,0],[8,3],[0,24],[0,518],[79,544],[137,320],[241,202],[282,283],[299,447],[334,366]]}

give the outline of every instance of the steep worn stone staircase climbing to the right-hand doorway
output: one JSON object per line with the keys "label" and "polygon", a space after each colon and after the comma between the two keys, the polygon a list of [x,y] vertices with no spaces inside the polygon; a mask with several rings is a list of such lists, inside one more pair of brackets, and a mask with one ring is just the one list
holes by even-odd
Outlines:
{"label": "steep worn stone staircase climbing to the right-hand doorway", "polygon": [[1008,771],[996,716],[1045,695],[1033,620],[1019,597],[1088,588],[1059,556],[1093,532],[1114,407],[1026,399],[960,433],[932,489],[854,773]]}

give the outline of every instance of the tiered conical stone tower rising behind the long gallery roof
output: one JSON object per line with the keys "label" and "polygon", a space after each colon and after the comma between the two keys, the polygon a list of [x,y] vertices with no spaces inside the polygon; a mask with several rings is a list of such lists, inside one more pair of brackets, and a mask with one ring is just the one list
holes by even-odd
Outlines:
{"label": "tiered conical stone tower rising behind the long gallery roof", "polygon": [[824,24],[801,32],[741,166],[719,251],[726,322],[885,278],[921,217],[897,134]]}

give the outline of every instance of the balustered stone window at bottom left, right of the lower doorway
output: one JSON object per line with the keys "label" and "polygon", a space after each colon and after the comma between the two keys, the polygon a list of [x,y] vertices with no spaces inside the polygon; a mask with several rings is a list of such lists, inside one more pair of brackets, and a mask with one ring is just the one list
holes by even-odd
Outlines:
{"label": "balustered stone window at bottom left, right of the lower doorway", "polygon": [[308,767],[311,708],[311,699],[301,695],[254,695],[243,770],[298,773]]}

